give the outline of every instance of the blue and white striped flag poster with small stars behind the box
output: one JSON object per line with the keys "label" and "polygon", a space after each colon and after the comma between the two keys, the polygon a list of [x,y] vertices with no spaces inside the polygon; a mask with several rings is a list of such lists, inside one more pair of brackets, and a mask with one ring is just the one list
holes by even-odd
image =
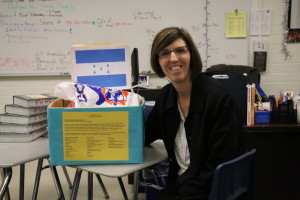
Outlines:
{"label": "blue and white striped flag poster with small stars behind the box", "polygon": [[131,87],[129,45],[74,45],[72,81],[104,88]]}

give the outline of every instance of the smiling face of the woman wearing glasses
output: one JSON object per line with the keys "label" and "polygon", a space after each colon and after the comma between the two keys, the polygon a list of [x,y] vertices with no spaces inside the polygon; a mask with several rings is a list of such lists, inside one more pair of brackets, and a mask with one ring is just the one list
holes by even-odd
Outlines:
{"label": "smiling face of the woman wearing glasses", "polygon": [[190,81],[190,60],[187,45],[181,38],[158,53],[160,67],[173,84]]}

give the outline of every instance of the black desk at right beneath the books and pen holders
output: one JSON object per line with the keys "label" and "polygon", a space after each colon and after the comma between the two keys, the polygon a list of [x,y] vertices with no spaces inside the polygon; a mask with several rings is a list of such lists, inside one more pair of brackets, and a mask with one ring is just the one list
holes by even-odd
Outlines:
{"label": "black desk at right beneath the books and pen holders", "polygon": [[246,146],[256,148],[256,199],[300,199],[300,124],[244,126]]}

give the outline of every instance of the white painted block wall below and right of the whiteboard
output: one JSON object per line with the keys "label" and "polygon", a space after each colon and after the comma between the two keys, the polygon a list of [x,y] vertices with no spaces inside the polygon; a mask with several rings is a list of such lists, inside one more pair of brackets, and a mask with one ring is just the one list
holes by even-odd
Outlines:
{"label": "white painted block wall below and right of the whiteboard", "polygon": [[[272,32],[263,39],[267,41],[267,70],[261,72],[261,87],[266,94],[280,90],[293,90],[300,92],[300,43],[288,44],[287,49],[291,58],[285,60],[281,53],[283,49],[283,16],[284,0],[251,0],[251,8],[269,8],[272,10]],[[220,5],[221,6],[221,5]],[[249,38],[249,65],[253,66],[253,40]],[[62,81],[70,81],[70,76],[27,76],[27,77],[0,77],[0,113],[4,111],[4,105],[12,103],[12,96],[29,93],[53,92],[56,84]],[[165,79],[151,76],[152,86],[163,86]]]}

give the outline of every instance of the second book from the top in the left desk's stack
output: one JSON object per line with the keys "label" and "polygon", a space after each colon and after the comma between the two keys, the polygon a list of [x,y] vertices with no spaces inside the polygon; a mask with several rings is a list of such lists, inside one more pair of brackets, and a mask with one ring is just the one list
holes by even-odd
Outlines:
{"label": "second book from the top in the left desk's stack", "polygon": [[4,107],[4,111],[10,114],[30,116],[30,115],[46,113],[47,106],[26,108],[16,104],[7,104]]}

